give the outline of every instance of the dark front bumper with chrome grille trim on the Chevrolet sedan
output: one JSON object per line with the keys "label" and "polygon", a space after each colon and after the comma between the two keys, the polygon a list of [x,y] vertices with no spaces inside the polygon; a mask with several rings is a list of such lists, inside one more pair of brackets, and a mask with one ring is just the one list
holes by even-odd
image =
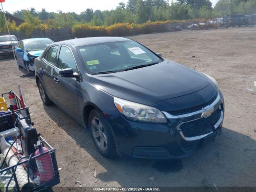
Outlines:
{"label": "dark front bumper with chrome grille trim on the Chevrolet sedan", "polygon": [[120,156],[151,159],[184,158],[221,134],[224,118],[224,100],[221,93],[209,106],[209,110],[212,114],[220,110],[218,120],[211,131],[192,137],[187,137],[182,132],[181,125],[209,118],[210,114],[204,113],[206,110],[181,116],[172,116],[164,112],[168,118],[168,123],[164,124],[133,122],[122,115],[108,120],[108,123],[114,133],[117,152]]}

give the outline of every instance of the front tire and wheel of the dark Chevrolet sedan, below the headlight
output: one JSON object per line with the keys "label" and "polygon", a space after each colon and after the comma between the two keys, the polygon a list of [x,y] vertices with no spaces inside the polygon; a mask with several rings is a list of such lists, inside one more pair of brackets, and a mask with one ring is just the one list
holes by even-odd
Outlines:
{"label": "front tire and wheel of the dark Chevrolet sedan, below the headlight", "polygon": [[[97,138],[95,138],[95,130],[97,128],[96,128],[96,126],[93,125],[94,121],[99,122],[99,124],[102,125],[101,131],[100,131],[100,127],[98,128],[99,136]],[[110,127],[108,126],[108,123],[106,122],[104,116],[102,115],[102,113],[100,111],[93,109],[90,112],[89,118],[88,118],[88,125],[89,125],[90,133],[92,136],[92,140],[93,140],[98,152],[106,158],[113,158],[114,156],[116,156],[116,144],[115,144],[113,134],[110,130]],[[100,147],[101,142],[99,140],[100,141],[104,140],[104,148],[105,149],[102,149]],[[105,142],[105,140],[107,142]]]}

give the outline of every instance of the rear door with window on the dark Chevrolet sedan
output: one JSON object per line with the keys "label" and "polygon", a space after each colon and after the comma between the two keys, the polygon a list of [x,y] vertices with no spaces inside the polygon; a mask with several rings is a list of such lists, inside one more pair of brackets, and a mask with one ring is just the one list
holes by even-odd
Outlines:
{"label": "rear door with window on the dark Chevrolet sedan", "polygon": [[55,92],[55,82],[54,82],[54,73],[58,66],[57,54],[58,54],[58,45],[52,46],[48,49],[44,58],[42,58],[43,65],[42,68],[39,68],[41,75],[42,84],[47,95],[55,103],[58,103],[56,92]]}

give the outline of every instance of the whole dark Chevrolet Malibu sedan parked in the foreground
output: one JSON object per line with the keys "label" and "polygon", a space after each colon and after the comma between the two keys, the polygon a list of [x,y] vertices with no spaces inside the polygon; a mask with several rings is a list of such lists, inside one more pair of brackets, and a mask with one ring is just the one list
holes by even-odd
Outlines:
{"label": "whole dark Chevrolet Malibu sedan parked in the foreground", "polygon": [[182,158],[221,133],[216,80],[134,40],[56,42],[36,58],[35,71],[43,103],[87,127],[103,156]]}

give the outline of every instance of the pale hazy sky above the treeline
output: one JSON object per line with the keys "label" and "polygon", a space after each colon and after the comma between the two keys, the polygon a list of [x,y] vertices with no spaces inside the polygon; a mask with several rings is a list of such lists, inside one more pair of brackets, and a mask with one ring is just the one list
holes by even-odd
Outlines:
{"label": "pale hazy sky above the treeline", "polygon": [[[48,12],[76,12],[80,13],[87,8],[93,10],[111,10],[115,9],[119,2],[127,2],[128,0],[5,0],[3,7],[5,11],[14,12],[16,10],[34,7],[37,11],[45,8]],[[213,5],[218,0],[210,0]]]}

